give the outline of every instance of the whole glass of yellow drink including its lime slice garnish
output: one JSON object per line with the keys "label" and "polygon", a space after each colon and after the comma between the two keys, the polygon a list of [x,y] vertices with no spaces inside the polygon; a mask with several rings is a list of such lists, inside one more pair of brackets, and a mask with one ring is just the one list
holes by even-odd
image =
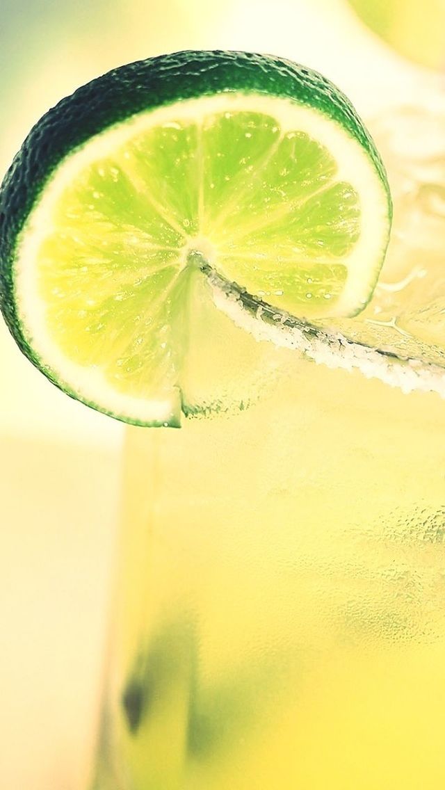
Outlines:
{"label": "whole glass of yellow drink including its lime slice garnish", "polygon": [[283,58],[123,66],[6,176],[13,337],[130,423],[94,790],[443,786],[443,149],[407,118],[386,259],[368,130]]}

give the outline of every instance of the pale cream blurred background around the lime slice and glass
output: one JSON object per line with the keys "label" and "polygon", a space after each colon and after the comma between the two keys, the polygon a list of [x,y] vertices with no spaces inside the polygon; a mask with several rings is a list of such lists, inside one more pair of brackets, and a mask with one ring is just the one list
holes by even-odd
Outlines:
{"label": "pale cream blurred background around the lime slice and glass", "polygon": [[[125,62],[283,55],[368,119],[439,78],[443,30],[443,0],[2,0],[0,175],[51,105]],[[51,386],[2,321],[0,359],[0,787],[86,790],[123,426]]]}

